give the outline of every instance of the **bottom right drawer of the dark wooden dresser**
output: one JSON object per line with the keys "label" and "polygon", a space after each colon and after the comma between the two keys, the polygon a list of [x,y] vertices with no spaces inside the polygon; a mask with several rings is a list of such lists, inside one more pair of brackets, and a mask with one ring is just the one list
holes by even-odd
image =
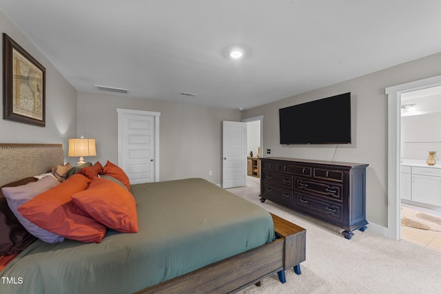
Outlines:
{"label": "bottom right drawer of the dark wooden dresser", "polygon": [[313,214],[327,220],[343,222],[343,207],[334,202],[327,202],[318,198],[311,198],[301,193],[294,197],[295,205],[308,214]]}

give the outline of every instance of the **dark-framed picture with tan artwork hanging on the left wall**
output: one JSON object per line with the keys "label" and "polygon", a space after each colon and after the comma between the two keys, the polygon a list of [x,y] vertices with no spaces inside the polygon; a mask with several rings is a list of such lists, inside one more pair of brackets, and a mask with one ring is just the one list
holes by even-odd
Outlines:
{"label": "dark-framed picture with tan artwork hanging on the left wall", "polygon": [[3,118],[45,127],[45,67],[3,33]]}

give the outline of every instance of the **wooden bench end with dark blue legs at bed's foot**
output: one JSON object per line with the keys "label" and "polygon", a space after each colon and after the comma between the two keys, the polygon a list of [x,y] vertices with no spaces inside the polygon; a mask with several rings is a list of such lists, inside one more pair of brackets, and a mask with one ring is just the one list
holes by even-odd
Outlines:
{"label": "wooden bench end with dark blue legs at bed's foot", "polygon": [[285,262],[283,271],[278,271],[280,282],[285,283],[285,271],[293,268],[294,272],[300,275],[300,262],[306,260],[306,229],[299,227],[297,224],[288,222],[271,213],[274,222],[274,231],[276,238],[285,239]]}

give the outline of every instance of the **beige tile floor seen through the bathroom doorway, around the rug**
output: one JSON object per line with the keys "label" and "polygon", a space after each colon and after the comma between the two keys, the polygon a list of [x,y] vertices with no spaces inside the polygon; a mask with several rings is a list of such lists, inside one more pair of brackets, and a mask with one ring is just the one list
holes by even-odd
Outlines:
{"label": "beige tile floor seen through the bathroom doorway, around the rug", "polygon": [[[424,207],[415,207],[410,204],[402,203],[402,206],[408,206],[418,209],[435,216],[441,216],[441,209],[425,209]],[[420,246],[441,252],[441,232],[427,231],[401,226],[401,239]]]}

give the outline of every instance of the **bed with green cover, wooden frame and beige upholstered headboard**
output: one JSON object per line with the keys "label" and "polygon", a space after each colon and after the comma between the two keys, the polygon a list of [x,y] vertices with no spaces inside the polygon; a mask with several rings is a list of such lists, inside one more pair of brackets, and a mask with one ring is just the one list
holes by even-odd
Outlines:
{"label": "bed with green cover, wooden frame and beige upholstered headboard", "polygon": [[[2,144],[0,186],[55,165],[63,165],[61,145]],[[0,271],[1,293],[234,293],[274,273],[284,282],[291,266],[300,273],[304,234],[302,248],[287,246],[269,213],[216,185],[192,178],[130,191],[139,231],[107,229],[101,242],[36,240]]]}

